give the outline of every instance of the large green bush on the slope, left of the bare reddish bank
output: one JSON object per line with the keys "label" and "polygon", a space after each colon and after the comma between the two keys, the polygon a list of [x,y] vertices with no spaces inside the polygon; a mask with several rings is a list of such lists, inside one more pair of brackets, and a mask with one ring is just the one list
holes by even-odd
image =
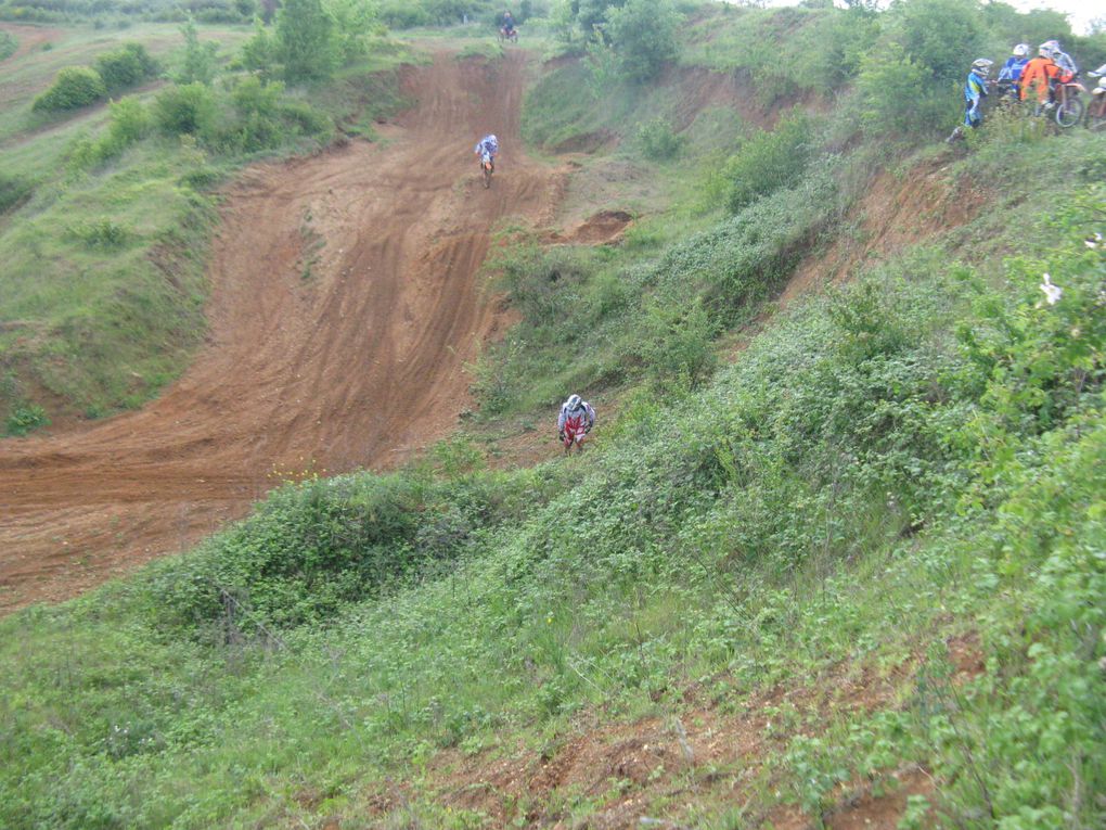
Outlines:
{"label": "large green bush on the slope, left of the bare reddish bank", "polygon": [[730,181],[730,210],[741,210],[760,196],[799,181],[817,149],[815,124],[796,108],[771,133],[758,133],[730,157],[722,172]]}

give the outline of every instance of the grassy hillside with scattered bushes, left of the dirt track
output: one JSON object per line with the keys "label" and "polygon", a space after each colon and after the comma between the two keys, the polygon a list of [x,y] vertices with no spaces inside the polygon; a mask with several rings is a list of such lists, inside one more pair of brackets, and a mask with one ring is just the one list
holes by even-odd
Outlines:
{"label": "grassy hillside with scattered bushes, left of the dirt track", "polygon": [[[212,188],[338,128],[372,136],[372,120],[399,104],[404,49],[382,43],[330,81],[284,86],[241,71],[249,34],[199,32],[210,86],[188,85],[176,27],[64,30],[51,49],[13,59],[0,113],[4,432],[136,407],[177,377],[205,331]],[[125,43],[144,46],[163,76],[114,91],[111,103],[32,108],[60,70],[101,65]]]}

